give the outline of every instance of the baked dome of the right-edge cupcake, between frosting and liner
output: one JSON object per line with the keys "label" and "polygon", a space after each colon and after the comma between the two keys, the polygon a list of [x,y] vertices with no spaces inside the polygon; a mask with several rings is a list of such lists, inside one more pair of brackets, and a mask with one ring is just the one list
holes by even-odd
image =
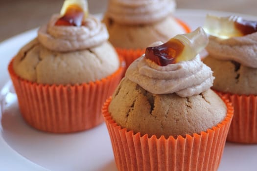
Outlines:
{"label": "baked dome of the right-edge cupcake, between frosting and liner", "polygon": [[218,60],[212,56],[206,57],[203,62],[213,71],[213,89],[238,95],[257,94],[256,68],[241,65],[233,60]]}

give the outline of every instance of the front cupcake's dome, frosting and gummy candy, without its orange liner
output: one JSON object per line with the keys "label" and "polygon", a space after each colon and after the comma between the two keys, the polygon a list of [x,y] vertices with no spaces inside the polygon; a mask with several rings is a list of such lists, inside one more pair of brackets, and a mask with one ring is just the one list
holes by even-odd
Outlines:
{"label": "front cupcake's dome, frosting and gummy candy, without its orange liner", "polygon": [[198,55],[207,43],[207,35],[198,28],[146,48],[112,97],[113,120],[122,128],[158,138],[200,133],[221,122],[227,108],[210,90],[212,71]]}

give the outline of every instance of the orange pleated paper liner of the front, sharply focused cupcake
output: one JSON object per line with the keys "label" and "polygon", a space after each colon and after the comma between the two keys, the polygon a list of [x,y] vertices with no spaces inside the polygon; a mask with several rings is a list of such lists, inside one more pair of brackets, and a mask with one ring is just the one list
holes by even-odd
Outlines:
{"label": "orange pleated paper liner of the front, sharply focused cupcake", "polygon": [[232,104],[222,97],[227,116],[217,126],[200,134],[174,138],[148,138],[121,128],[108,112],[109,98],[102,109],[119,171],[216,171],[233,117]]}

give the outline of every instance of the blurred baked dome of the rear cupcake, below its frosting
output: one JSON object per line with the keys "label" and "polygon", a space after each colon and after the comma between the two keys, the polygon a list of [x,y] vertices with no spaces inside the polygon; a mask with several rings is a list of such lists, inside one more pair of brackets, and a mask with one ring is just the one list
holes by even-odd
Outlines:
{"label": "blurred baked dome of the rear cupcake, below its frosting", "polygon": [[[176,34],[189,32],[188,28],[184,28],[179,24],[183,22],[174,19],[172,15],[151,24],[119,24],[108,17],[105,17],[103,22],[106,24],[110,34],[109,41],[115,47],[125,49],[143,49],[153,42],[166,42]],[[174,31],[170,30],[171,28]]]}

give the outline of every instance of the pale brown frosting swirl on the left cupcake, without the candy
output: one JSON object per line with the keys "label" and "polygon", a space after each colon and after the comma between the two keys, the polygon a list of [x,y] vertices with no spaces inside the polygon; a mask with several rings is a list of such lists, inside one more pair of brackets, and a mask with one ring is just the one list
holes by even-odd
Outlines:
{"label": "pale brown frosting swirl on the left cupcake, without the candy", "polygon": [[58,26],[55,22],[60,15],[53,15],[48,24],[38,30],[38,40],[50,50],[68,52],[97,46],[109,39],[103,23],[88,16],[83,25]]}

